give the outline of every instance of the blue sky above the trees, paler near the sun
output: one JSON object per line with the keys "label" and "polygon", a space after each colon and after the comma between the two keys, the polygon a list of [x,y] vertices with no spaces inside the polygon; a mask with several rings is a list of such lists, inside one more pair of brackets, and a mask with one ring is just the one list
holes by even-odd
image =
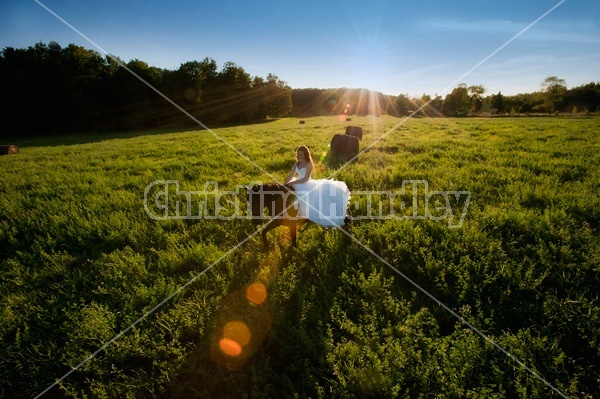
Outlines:
{"label": "blue sky above the trees, paler near the sun", "polygon": [[[561,0],[39,1],[126,61],[177,69],[211,57],[294,88],[420,96],[466,83],[513,95],[552,75],[600,81],[598,0],[566,0],[517,38]],[[4,0],[0,48],[40,41],[98,50],[34,0]]]}

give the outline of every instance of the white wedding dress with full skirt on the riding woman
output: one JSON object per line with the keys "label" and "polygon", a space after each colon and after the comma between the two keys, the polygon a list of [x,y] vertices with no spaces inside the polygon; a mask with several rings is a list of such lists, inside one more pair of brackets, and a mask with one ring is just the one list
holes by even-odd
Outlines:
{"label": "white wedding dress with full skirt on the riding woman", "polygon": [[[296,166],[298,177],[304,178],[306,168]],[[312,179],[310,176],[304,183],[294,184],[298,217],[324,227],[341,227],[344,225],[350,190],[346,183],[338,180]]]}

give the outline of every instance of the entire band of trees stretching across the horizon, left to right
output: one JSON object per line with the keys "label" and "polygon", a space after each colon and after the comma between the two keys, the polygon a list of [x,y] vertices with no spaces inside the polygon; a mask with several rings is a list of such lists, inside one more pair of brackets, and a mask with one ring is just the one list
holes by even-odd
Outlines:
{"label": "entire band of trees stretching across the horizon, left to right", "polygon": [[484,96],[484,86],[460,84],[443,98],[415,98],[364,89],[292,89],[274,74],[250,76],[233,62],[219,69],[208,57],[161,69],[56,42],[4,48],[0,84],[5,104],[0,135],[6,137],[197,126],[194,119],[222,126],[288,115],[461,117],[600,110],[600,83],[567,89],[556,76],[546,78],[540,91],[515,96]]}

